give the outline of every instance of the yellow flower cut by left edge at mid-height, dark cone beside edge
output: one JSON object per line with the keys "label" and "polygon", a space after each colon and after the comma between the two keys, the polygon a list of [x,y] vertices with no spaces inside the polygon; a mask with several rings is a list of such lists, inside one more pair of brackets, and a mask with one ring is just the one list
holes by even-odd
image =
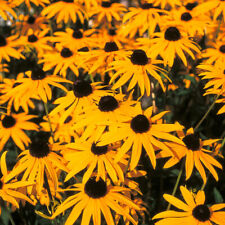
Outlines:
{"label": "yellow flower cut by left edge at mid-height, dark cone beside edge", "polygon": [[1,115],[0,150],[3,149],[10,137],[21,150],[24,150],[25,146],[30,143],[30,138],[25,134],[24,130],[38,130],[38,126],[29,121],[35,117],[26,113]]}

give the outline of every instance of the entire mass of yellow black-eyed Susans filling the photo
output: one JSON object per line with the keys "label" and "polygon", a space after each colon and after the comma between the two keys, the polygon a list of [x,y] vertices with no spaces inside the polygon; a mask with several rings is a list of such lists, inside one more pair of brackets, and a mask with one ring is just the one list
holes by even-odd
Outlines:
{"label": "entire mass of yellow black-eyed Susans filling the photo", "polygon": [[181,162],[164,198],[184,211],[169,206],[147,224],[225,224],[225,204],[207,206],[203,190],[180,186],[185,203],[174,197],[183,168],[185,181],[196,168],[203,188],[206,171],[218,181],[224,142],[199,136],[204,118],[167,123],[155,99],[179,88],[169,84],[179,64],[225,103],[224,0],[0,0],[0,17],[10,24],[0,27],[1,207],[45,205],[49,215],[37,213],[50,220],[71,208],[65,225],[138,224],[147,156],[153,169]]}

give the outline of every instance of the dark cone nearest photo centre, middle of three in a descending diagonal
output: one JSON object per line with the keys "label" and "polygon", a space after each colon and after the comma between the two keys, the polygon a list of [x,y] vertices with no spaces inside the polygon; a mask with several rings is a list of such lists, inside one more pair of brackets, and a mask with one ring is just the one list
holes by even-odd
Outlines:
{"label": "dark cone nearest photo centre, middle of three in a descending diagonal", "polygon": [[98,104],[98,108],[102,112],[113,111],[116,108],[118,108],[118,106],[119,106],[119,104],[118,104],[117,100],[113,96],[110,96],[110,95],[101,97],[99,104]]}

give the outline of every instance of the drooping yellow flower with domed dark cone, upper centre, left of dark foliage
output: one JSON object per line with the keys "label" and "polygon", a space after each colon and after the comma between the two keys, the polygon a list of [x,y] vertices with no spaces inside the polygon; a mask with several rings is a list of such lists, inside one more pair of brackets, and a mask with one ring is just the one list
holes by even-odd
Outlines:
{"label": "drooping yellow flower with domed dark cone, upper centre, left of dark foliage", "polygon": [[[151,77],[153,77],[159,82],[162,89],[165,90],[160,73],[168,78],[165,74],[166,71],[156,66],[162,63],[161,60],[156,60],[148,56],[142,49],[134,50],[128,57],[115,60],[110,64],[108,71],[115,70],[110,80],[110,83],[115,82],[112,88],[117,89],[129,81],[128,91],[132,90],[138,84],[141,96],[145,93],[149,96],[151,91]],[[118,77],[120,78],[116,80]]]}

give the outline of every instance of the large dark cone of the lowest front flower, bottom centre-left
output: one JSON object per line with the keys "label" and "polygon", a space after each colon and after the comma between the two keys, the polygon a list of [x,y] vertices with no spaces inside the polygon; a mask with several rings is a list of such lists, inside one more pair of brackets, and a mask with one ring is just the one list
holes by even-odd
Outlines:
{"label": "large dark cone of the lowest front flower, bottom centre-left", "polygon": [[96,177],[91,177],[85,184],[84,191],[90,198],[101,198],[107,194],[107,185],[102,178],[96,181]]}

